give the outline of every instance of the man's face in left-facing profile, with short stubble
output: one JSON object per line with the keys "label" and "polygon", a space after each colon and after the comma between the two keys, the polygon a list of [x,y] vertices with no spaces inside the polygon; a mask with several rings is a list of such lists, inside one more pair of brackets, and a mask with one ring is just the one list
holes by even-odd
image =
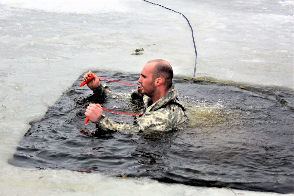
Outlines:
{"label": "man's face in left-facing profile, with short stubble", "polygon": [[145,64],[138,80],[142,86],[142,93],[151,98],[156,91],[155,81],[152,79],[152,74],[150,73],[154,66],[155,63]]}

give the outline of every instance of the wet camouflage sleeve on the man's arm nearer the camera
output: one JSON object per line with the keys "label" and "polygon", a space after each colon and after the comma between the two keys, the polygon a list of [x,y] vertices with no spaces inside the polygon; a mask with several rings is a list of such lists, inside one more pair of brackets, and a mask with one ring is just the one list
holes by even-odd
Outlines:
{"label": "wet camouflage sleeve on the man's arm nearer the camera", "polygon": [[140,131],[167,131],[176,128],[183,122],[184,112],[177,105],[169,105],[153,112],[146,112],[139,117],[133,125],[117,123],[101,115],[96,123],[96,127],[101,130],[140,132]]}

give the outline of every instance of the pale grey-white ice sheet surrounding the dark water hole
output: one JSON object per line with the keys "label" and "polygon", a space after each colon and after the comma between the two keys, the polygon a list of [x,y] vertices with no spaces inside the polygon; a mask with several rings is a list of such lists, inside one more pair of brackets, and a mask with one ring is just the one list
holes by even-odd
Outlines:
{"label": "pale grey-white ice sheet surrounding the dark water hole", "polygon": [[[293,89],[293,1],[154,1],[190,21],[196,77]],[[144,48],[143,55],[130,55]],[[140,73],[163,58],[193,76],[195,52],[183,16],[144,1],[0,1],[2,195],[278,195],[28,170],[7,160],[84,72]]]}

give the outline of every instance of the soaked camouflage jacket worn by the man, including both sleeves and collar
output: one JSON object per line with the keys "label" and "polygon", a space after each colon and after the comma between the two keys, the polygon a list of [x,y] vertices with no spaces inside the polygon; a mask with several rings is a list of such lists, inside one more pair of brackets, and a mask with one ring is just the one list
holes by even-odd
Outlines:
{"label": "soaked camouflage jacket worn by the man, including both sleeves and collar", "polygon": [[[95,93],[100,91],[101,95],[114,95],[108,86],[102,84],[99,84],[99,86]],[[174,130],[177,128],[177,125],[185,121],[185,113],[177,97],[178,90],[174,85],[155,103],[152,103],[151,98],[144,95],[143,101],[146,109],[143,115],[135,120],[133,125],[117,123],[105,115],[101,115],[97,120],[96,127],[101,130],[123,132]]]}

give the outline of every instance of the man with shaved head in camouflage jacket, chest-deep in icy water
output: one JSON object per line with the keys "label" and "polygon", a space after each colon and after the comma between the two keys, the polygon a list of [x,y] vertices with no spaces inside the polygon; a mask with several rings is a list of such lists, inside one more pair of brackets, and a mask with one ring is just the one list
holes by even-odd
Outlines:
{"label": "man with shaved head in camouflage jacket, chest-deep in icy water", "polygon": [[[91,71],[86,73],[83,81],[89,76],[94,79],[87,83],[88,87],[101,95],[113,94],[111,89],[99,83],[99,79]],[[122,124],[114,122],[103,115],[101,105],[90,103],[85,115],[96,123],[96,127],[102,130],[140,132],[144,130],[174,130],[185,120],[184,108],[178,100],[178,90],[172,83],[173,69],[171,65],[162,59],[147,62],[138,82],[142,86],[144,113],[138,117],[134,124]]]}

